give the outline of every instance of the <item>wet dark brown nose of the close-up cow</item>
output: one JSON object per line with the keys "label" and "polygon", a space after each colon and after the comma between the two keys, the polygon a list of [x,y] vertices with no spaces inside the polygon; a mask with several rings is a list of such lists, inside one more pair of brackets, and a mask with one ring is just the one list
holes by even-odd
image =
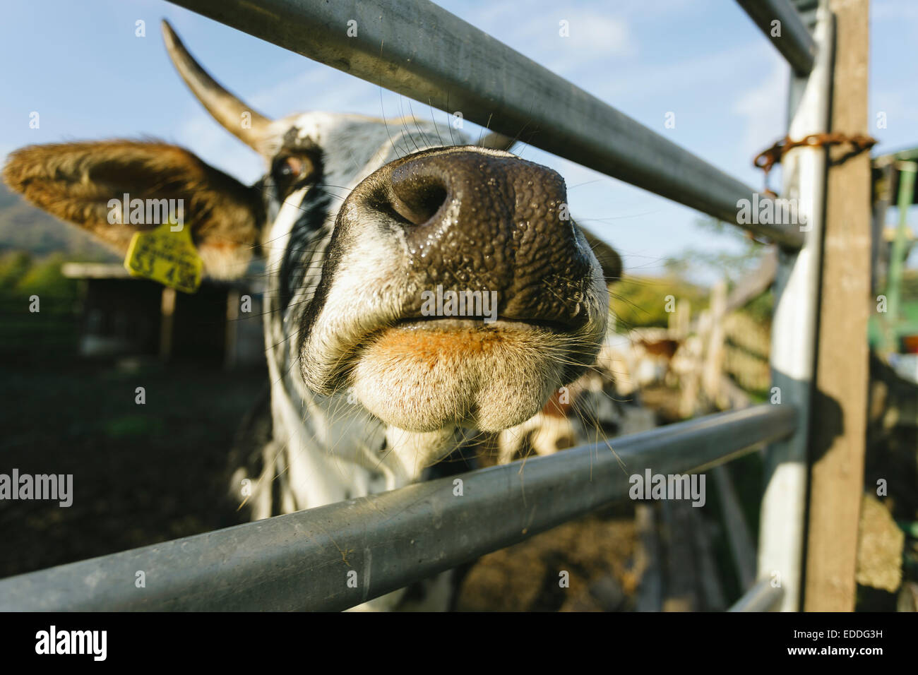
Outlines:
{"label": "wet dark brown nose of the close-up cow", "polygon": [[590,266],[559,174],[508,153],[462,149],[388,169],[375,208],[397,220],[409,264],[431,285],[497,291],[507,319],[581,318],[569,291],[588,280]]}

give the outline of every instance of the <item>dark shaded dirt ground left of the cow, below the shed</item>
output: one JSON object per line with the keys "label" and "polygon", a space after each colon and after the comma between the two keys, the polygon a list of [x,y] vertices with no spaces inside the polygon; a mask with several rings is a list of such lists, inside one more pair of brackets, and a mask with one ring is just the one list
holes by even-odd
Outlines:
{"label": "dark shaded dirt ground left of the cow, below the shed", "polygon": [[237,523],[226,449],[263,377],[189,365],[0,366],[0,471],[73,474],[69,508],[0,501],[0,577]]}

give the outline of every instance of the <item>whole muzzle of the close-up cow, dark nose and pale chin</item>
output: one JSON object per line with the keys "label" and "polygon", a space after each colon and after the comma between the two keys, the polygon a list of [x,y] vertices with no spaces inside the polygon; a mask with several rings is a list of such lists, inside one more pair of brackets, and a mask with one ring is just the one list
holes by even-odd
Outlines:
{"label": "whole muzzle of the close-up cow, dark nose and pale chin", "polygon": [[508,152],[416,152],[341,205],[301,372],[400,429],[499,431],[593,362],[608,308],[560,175]]}

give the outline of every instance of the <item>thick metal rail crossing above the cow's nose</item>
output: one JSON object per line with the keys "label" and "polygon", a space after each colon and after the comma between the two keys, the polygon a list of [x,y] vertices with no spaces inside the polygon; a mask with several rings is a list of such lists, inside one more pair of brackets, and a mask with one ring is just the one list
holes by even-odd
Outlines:
{"label": "thick metal rail crossing above the cow's nose", "polygon": [[752,187],[429,0],[171,2],[782,245],[802,242],[796,227],[738,225]]}

